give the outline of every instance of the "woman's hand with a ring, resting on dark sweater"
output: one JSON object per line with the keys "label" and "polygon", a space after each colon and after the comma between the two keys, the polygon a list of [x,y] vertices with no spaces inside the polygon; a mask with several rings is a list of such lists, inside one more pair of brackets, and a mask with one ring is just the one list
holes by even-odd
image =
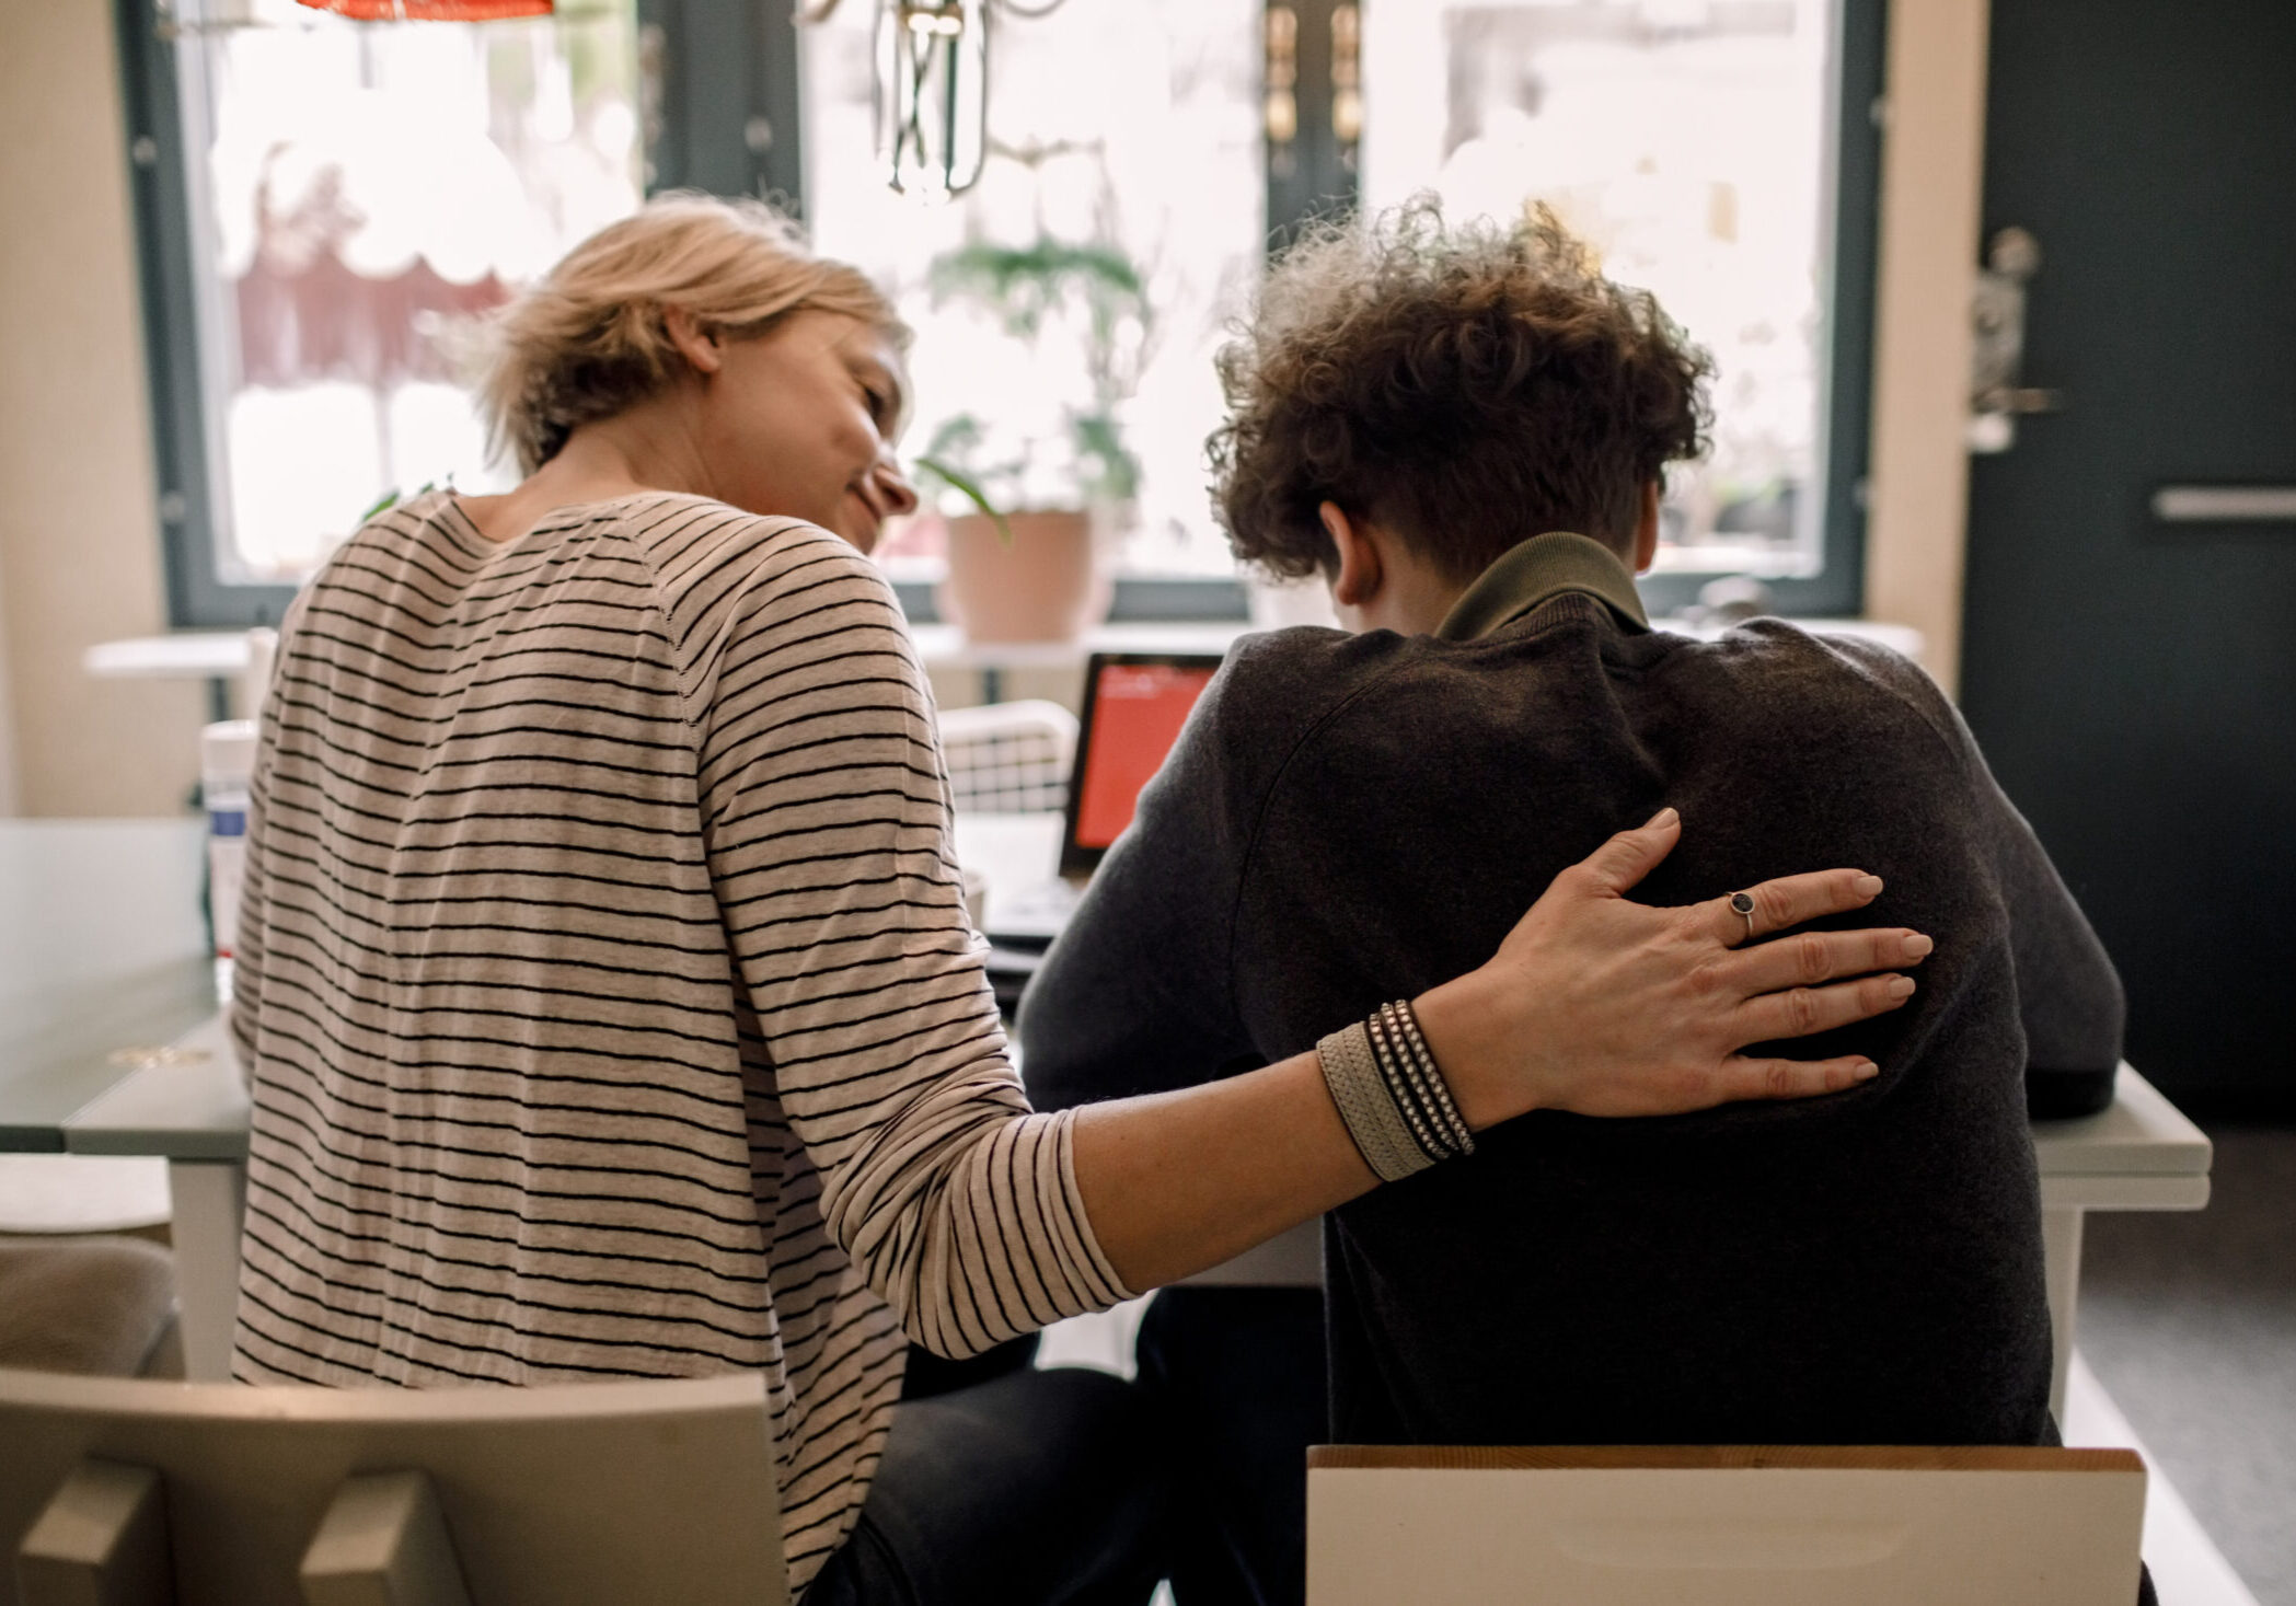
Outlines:
{"label": "woman's hand with a ring, resting on dark sweater", "polygon": [[[1871,1060],[1747,1058],[1747,1044],[1807,1037],[1896,1009],[1931,941],[1903,927],[1777,936],[1864,909],[1880,879],[1821,870],[1729,897],[1651,909],[1626,897],[1681,840],[1660,810],[1554,879],[1476,970],[1414,1012],[1474,1129],[1527,1110],[1678,1115],[1733,1099],[1839,1092]],[[1750,936],[1752,934],[1752,936]],[[1766,938],[1766,941],[1763,941]]]}

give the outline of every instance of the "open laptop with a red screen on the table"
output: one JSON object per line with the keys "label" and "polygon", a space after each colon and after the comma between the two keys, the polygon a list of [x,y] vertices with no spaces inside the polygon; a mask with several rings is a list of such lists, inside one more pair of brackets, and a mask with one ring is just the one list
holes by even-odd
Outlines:
{"label": "open laptop with a red screen on the table", "polygon": [[992,899],[990,977],[999,998],[1008,987],[1019,991],[1068,925],[1084,883],[1132,824],[1141,787],[1162,769],[1219,663],[1212,652],[1095,652],[1086,663],[1058,865],[1047,865],[1040,886]]}

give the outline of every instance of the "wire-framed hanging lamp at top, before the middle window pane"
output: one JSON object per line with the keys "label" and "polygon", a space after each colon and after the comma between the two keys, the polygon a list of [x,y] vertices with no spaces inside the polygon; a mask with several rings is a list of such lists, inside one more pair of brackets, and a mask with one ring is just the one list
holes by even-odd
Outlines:
{"label": "wire-framed hanging lamp at top, before the middle window pane", "polygon": [[[980,181],[990,154],[990,11],[1040,18],[1063,5],[877,0],[877,161],[895,193],[944,202]],[[838,0],[810,0],[797,21],[824,23],[836,9]]]}

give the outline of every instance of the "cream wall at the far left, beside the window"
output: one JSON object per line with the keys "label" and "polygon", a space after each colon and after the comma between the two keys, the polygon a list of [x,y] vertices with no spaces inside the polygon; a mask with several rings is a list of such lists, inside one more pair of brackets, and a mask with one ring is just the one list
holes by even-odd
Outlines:
{"label": "cream wall at the far left, beside the window", "polygon": [[197,684],[92,681],[165,629],[113,9],[0,0],[0,810],[172,814]]}

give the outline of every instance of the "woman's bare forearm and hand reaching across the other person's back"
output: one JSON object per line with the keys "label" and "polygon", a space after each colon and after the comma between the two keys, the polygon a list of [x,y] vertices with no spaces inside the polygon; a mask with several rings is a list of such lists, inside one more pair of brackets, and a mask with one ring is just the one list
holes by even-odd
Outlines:
{"label": "woman's bare forearm and hand reaching across the other person's back", "polygon": [[[1720,902],[1649,909],[1626,890],[1681,835],[1665,810],[1557,876],[1490,964],[1412,1000],[1474,1129],[1529,1110],[1678,1115],[1731,1099],[1798,1099],[1874,1076],[1867,1060],[1747,1060],[1894,1009],[1929,938],[1828,931],[1731,950],[1745,922]],[[1754,888],[1763,934],[1860,909],[1853,870]],[[1860,977],[1860,980],[1835,980]],[[1830,984],[1828,984],[1830,982]],[[1116,1273],[1173,1283],[1368,1193],[1364,1163],[1313,1053],[1182,1092],[1086,1106],[1077,1188]]]}

